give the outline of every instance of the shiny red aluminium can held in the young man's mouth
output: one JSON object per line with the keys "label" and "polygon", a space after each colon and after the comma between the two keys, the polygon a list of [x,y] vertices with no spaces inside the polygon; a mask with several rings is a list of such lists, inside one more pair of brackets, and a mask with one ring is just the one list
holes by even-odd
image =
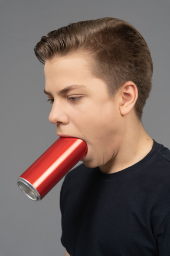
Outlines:
{"label": "shiny red aluminium can held in the young man's mouth", "polygon": [[60,137],[18,178],[19,188],[33,201],[41,200],[86,153],[84,140]]}

